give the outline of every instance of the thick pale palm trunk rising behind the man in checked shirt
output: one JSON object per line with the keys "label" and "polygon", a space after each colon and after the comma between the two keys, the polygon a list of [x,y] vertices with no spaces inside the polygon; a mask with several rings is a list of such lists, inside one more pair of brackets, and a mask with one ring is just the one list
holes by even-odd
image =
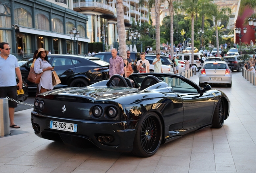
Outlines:
{"label": "thick pale palm trunk rising behind the man in checked shirt", "polygon": [[116,15],[118,24],[119,54],[127,58],[124,27],[124,4],[122,0],[116,0]]}

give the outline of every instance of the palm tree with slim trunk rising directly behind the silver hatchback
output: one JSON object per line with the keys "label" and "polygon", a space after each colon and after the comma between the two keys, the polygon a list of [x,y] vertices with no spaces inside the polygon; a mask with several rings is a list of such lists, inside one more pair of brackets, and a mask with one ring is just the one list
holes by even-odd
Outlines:
{"label": "palm tree with slim trunk rising directly behind the silver hatchback", "polygon": [[[229,16],[231,14],[231,9],[227,7],[223,7],[220,10],[220,6],[217,4],[213,4],[213,8],[211,10],[211,14],[214,17],[215,21],[215,32],[216,32],[216,47],[217,47],[217,56],[219,57],[219,34],[218,34],[218,22],[221,20],[229,20]],[[228,15],[227,15],[228,14]]]}

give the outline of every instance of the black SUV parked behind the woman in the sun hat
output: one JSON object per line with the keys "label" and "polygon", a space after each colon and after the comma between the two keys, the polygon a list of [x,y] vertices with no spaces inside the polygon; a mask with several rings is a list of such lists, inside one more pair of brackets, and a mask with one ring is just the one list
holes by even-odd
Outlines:
{"label": "black SUV parked behind the woman in the sun hat", "polygon": [[[50,54],[47,56],[61,81],[54,89],[85,87],[109,78],[109,63],[100,58],[64,54]],[[36,84],[27,80],[32,63],[33,60],[30,60],[20,67],[21,74],[25,77],[25,82],[28,84],[29,91],[36,90]]]}

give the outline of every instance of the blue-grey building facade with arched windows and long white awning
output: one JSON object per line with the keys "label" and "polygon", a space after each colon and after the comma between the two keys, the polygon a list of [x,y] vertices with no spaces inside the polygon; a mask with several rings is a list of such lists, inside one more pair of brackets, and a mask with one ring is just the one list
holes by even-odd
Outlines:
{"label": "blue-grey building facade with arched windows and long white awning", "polygon": [[[72,0],[1,0],[0,42],[8,42],[18,58],[22,52],[31,56],[37,48],[52,54],[87,53],[88,18],[72,5]],[[80,32],[78,40],[70,38],[74,27]]]}

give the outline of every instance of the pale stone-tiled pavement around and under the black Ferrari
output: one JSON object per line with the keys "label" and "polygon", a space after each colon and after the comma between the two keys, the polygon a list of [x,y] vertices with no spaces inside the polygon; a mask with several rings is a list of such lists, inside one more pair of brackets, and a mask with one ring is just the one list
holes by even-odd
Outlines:
{"label": "pale stone-tiled pavement around and under the black Ferrari", "polygon": [[[198,83],[198,75],[191,79]],[[149,158],[41,139],[33,133],[32,109],[16,112],[16,130],[27,133],[0,138],[0,173],[255,173],[256,86],[242,72],[233,72],[232,83],[213,87],[231,100],[223,128],[189,133]]]}

